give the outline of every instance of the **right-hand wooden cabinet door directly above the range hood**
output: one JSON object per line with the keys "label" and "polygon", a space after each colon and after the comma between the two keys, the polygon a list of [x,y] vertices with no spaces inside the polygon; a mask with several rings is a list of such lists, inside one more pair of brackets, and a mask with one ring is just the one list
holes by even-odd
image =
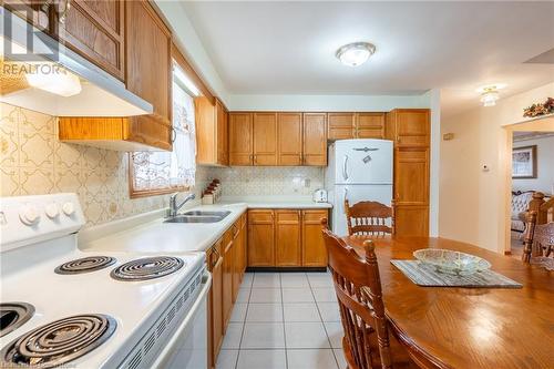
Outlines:
{"label": "right-hand wooden cabinet door directly above the range hood", "polygon": [[[58,35],[73,51],[123,81],[125,78],[123,19],[124,2],[121,0],[73,0],[65,21],[57,22]],[[163,37],[160,40],[163,40]]]}

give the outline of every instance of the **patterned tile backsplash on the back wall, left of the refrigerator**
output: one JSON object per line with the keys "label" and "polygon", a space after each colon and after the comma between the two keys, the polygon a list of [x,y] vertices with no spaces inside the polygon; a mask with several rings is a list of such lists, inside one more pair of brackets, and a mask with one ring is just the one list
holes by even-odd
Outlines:
{"label": "patterned tile backsplash on the back wall, left of the refrigerator", "polygon": [[209,168],[224,196],[306,196],[324,187],[324,168],[309,166],[237,166]]}

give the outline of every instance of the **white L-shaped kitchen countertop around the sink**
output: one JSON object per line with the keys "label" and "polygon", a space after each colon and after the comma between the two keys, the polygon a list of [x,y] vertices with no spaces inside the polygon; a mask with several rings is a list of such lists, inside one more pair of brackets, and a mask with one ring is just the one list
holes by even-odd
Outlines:
{"label": "white L-shaped kitchen countertop around the sink", "polygon": [[[305,198],[224,198],[214,205],[198,205],[186,211],[229,211],[218,223],[164,223],[161,212],[116,221],[80,233],[79,247],[86,250],[123,250],[157,254],[205,252],[223,236],[248,208],[330,208],[328,203],[314,203]],[[154,219],[152,219],[154,217]],[[107,236],[103,236],[106,235]]]}

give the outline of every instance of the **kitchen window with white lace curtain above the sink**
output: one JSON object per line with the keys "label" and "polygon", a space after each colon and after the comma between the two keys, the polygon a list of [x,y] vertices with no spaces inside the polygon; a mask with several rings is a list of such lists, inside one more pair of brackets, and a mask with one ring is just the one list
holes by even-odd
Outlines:
{"label": "kitchen window with white lace curtain above the sink", "polygon": [[196,172],[194,98],[176,78],[173,81],[173,140],[172,152],[130,153],[131,197],[187,191],[194,186]]}

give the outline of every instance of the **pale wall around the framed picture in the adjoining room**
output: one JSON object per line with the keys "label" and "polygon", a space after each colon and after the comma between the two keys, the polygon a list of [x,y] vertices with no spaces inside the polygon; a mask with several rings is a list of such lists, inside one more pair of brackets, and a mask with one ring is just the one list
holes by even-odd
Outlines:
{"label": "pale wall around the framed picture in the adjoining room", "polygon": [[536,145],[536,178],[513,178],[515,191],[554,193],[554,136],[514,142],[515,147]]}

